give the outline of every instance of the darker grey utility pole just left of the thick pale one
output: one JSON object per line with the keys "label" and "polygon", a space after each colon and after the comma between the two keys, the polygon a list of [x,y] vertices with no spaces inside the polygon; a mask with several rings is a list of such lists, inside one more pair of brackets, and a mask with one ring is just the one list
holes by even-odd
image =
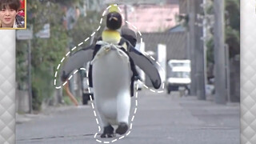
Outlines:
{"label": "darker grey utility pole just left of the thick pale one", "polygon": [[196,24],[194,28],[195,38],[195,62],[196,62],[196,80],[197,80],[197,96],[199,100],[206,100],[206,88],[205,88],[205,58],[204,58],[204,45],[203,45],[203,22],[202,18],[198,18],[203,13],[202,3],[203,0],[195,0],[195,14]]}

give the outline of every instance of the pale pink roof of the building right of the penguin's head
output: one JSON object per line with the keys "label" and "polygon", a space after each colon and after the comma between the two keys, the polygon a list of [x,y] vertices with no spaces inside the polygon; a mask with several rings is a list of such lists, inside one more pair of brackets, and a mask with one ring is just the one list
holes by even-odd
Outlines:
{"label": "pale pink roof of the building right of the penguin's head", "polygon": [[[124,11],[124,6],[120,6]],[[124,12],[123,12],[124,13]],[[126,20],[141,32],[162,32],[176,26],[178,4],[127,6]],[[131,26],[130,26],[131,27]]]}

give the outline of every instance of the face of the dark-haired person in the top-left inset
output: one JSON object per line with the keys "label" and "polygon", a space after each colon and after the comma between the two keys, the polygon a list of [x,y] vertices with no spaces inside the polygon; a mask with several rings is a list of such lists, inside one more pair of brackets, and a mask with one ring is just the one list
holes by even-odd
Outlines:
{"label": "face of the dark-haired person in the top-left inset", "polygon": [[0,10],[0,21],[2,27],[13,27],[14,20],[17,14],[17,11],[14,9],[10,9],[9,6]]}

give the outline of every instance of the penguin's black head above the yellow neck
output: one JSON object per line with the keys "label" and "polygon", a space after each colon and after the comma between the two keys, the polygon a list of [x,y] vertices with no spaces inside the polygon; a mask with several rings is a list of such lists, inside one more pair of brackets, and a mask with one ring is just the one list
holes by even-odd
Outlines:
{"label": "penguin's black head above the yellow neck", "polygon": [[118,12],[110,12],[106,15],[106,27],[110,30],[118,30],[122,26],[122,16]]}

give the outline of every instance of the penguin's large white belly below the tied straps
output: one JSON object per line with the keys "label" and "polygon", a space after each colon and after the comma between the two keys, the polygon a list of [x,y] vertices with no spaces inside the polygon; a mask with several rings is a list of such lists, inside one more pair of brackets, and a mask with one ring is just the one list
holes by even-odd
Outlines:
{"label": "penguin's large white belly below the tied straps", "polygon": [[[127,122],[130,114],[130,62],[117,50],[93,63],[94,101],[103,124]],[[105,122],[104,122],[105,121]]]}

